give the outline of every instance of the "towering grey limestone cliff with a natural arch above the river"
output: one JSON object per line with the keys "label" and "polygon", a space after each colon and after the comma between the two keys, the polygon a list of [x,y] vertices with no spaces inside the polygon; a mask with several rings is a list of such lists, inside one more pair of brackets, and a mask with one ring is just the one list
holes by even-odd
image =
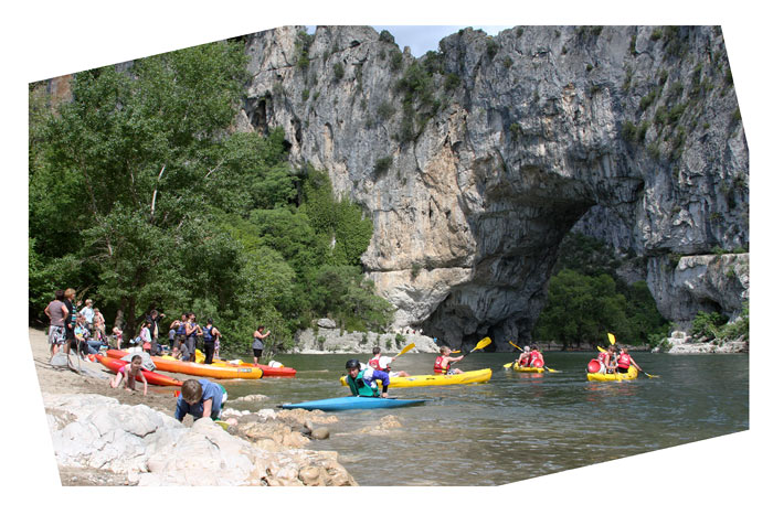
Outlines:
{"label": "towering grey limestone cliff with a natural arch above the river", "polygon": [[[416,61],[368,26],[287,26],[247,52],[240,129],[284,127],[294,162],[364,206],[362,261],[399,328],[528,340],[579,222],[647,258],[677,319],[701,302],[675,293],[669,256],[748,248],[749,153],[719,28],[465,30]],[[713,305],[732,312],[731,290]]]}

